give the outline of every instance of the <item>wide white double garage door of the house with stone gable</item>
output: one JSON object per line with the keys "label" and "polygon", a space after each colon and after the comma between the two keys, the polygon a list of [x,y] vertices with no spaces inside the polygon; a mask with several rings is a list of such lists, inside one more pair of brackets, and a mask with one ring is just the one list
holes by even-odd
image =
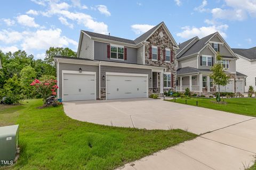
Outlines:
{"label": "wide white double garage door of the house with stone gable", "polygon": [[107,75],[107,99],[147,98],[147,76]]}

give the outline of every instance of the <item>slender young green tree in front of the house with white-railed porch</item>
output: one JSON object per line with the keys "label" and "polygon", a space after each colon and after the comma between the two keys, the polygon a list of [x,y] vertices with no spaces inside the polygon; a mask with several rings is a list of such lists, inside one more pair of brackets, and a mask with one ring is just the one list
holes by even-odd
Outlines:
{"label": "slender young green tree in front of the house with white-railed porch", "polygon": [[218,85],[219,87],[216,100],[220,102],[220,86],[226,86],[229,83],[230,77],[225,73],[222,67],[222,56],[219,52],[217,53],[216,60],[217,62],[211,68],[212,74],[210,77],[213,79],[213,84]]}

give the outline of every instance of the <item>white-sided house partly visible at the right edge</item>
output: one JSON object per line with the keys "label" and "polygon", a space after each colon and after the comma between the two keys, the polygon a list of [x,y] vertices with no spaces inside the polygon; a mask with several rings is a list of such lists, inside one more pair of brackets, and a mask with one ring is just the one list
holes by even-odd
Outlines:
{"label": "white-sided house partly visible at the right edge", "polygon": [[256,47],[249,49],[232,48],[238,56],[236,61],[237,71],[245,74],[245,92],[248,92],[249,86],[253,86],[256,90]]}

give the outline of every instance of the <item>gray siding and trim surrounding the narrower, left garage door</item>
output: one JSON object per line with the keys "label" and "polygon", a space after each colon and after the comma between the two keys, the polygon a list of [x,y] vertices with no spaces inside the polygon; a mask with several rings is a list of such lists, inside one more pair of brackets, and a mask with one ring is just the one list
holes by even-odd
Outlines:
{"label": "gray siding and trim surrounding the narrower, left garage door", "polygon": [[99,66],[59,63],[59,93],[60,93],[59,96],[60,96],[60,98],[62,98],[62,70],[78,72],[79,67],[81,67],[83,71],[96,72],[96,90],[97,90],[96,92],[97,92],[97,98],[98,98],[99,97]]}

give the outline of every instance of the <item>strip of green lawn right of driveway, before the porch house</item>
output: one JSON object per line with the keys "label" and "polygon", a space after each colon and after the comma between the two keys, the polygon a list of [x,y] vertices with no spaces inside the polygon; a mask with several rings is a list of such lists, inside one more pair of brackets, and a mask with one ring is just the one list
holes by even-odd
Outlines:
{"label": "strip of green lawn right of driveway, before the porch house", "polygon": [[[190,99],[176,99],[177,103],[198,106],[203,108],[209,108],[214,110],[227,111],[239,115],[247,115],[256,117],[256,98],[229,98],[224,99],[227,104],[218,104],[212,101],[216,101],[214,98],[190,98]],[[221,99],[222,100],[222,99]],[[174,102],[174,100],[167,100]]]}

